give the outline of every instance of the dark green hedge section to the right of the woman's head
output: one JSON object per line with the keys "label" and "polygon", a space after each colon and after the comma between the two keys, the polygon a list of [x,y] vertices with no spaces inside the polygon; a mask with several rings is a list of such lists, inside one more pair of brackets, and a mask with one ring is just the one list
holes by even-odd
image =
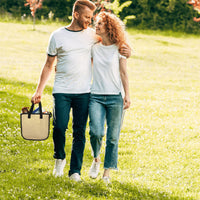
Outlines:
{"label": "dark green hedge section to the right of the woman's head", "polygon": [[186,0],[133,0],[121,16],[126,16],[127,13],[136,16],[134,22],[129,25],[142,29],[171,29],[197,33],[200,31],[199,25],[192,21],[197,13]]}

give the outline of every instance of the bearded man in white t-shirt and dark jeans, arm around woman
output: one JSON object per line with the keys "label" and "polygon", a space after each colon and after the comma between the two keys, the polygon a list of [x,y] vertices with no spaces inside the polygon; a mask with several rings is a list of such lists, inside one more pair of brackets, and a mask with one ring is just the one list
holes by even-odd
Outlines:
{"label": "bearded man in white t-shirt and dark jeans, arm around woman", "polygon": [[[54,31],[47,48],[47,59],[40,75],[38,87],[31,102],[39,103],[46,82],[57,59],[53,87],[53,141],[55,167],[53,174],[62,176],[65,160],[65,131],[69,113],[73,115],[73,143],[69,178],[80,181],[80,171],[85,148],[85,129],[88,118],[88,103],[91,84],[91,46],[97,36],[88,26],[96,7],[89,0],[77,0],[73,6],[72,22],[67,27]],[[129,57],[130,49],[123,55]],[[128,55],[127,55],[128,54]]]}

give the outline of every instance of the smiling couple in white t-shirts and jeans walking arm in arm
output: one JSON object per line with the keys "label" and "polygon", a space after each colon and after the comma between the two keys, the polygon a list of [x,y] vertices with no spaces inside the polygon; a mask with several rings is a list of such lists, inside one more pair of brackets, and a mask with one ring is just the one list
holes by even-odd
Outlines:
{"label": "smiling couple in white t-shirts and jeans walking arm in arm", "polygon": [[130,56],[131,50],[125,45],[123,25],[115,15],[100,12],[96,19],[96,33],[88,27],[95,9],[95,4],[91,1],[77,0],[73,6],[71,24],[51,34],[46,62],[31,101],[41,101],[42,92],[57,59],[53,87],[53,141],[56,159],[53,174],[63,175],[66,164],[65,131],[72,108],[73,142],[69,178],[81,180],[89,113],[90,143],[94,156],[89,174],[91,178],[96,178],[99,173],[100,149],[106,121],[103,180],[109,182],[110,169],[117,169],[122,111],[130,106],[126,57]]}

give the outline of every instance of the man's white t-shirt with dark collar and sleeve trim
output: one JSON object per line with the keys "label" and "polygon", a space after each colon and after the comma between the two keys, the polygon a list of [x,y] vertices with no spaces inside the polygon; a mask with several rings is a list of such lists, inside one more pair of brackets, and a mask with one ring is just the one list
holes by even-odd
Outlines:
{"label": "man's white t-shirt with dark collar and sleeve trim", "polygon": [[91,28],[70,31],[62,27],[51,34],[47,54],[57,56],[53,93],[90,92],[91,47],[95,42]]}

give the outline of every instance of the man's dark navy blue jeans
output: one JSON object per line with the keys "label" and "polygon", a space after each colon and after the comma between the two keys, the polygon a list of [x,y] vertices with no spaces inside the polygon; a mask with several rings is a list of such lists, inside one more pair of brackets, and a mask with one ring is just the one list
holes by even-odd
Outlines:
{"label": "man's dark navy blue jeans", "polygon": [[69,176],[81,171],[83,152],[85,148],[85,129],[88,118],[90,94],[53,94],[53,141],[54,158],[64,159],[65,131],[68,127],[70,109],[73,115],[73,142]]}

